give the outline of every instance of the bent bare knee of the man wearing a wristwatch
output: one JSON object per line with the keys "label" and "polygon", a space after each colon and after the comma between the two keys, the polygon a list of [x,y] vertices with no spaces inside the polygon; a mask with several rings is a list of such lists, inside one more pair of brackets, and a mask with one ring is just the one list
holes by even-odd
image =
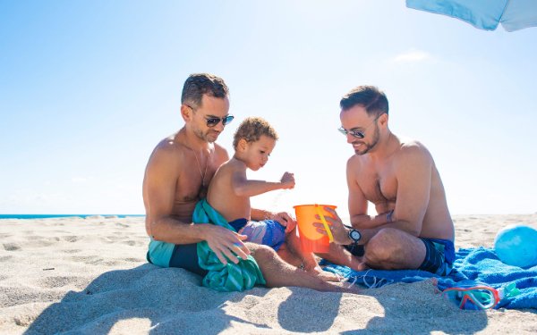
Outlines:
{"label": "bent bare knee of the man wearing a wristwatch", "polygon": [[421,239],[403,230],[386,228],[369,240],[363,262],[373,269],[417,269],[425,252]]}

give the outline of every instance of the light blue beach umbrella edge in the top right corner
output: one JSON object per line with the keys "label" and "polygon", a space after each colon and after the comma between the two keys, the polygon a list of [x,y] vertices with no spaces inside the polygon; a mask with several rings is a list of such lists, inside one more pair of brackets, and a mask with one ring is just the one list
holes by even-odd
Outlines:
{"label": "light blue beach umbrella edge in the top right corner", "polygon": [[507,31],[537,26],[537,0],[406,0],[406,6],[485,30],[494,30],[499,23]]}

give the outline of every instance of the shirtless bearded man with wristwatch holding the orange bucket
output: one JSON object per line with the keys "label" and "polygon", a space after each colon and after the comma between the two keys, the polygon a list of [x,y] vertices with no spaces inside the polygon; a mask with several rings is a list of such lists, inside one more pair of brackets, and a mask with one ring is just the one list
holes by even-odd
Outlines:
{"label": "shirtless bearded man with wristwatch holding the orange bucket", "polygon": [[[355,153],[346,166],[352,229],[327,208],[335,217],[327,219],[336,243],[322,256],[358,271],[420,269],[447,275],[455,258],[454,227],[429,150],[388,129],[388,99],[378,88],[354,88],[340,106],[339,131]],[[378,215],[367,214],[368,202]],[[326,234],[322,223],[315,225]],[[362,249],[363,255],[347,249]]]}

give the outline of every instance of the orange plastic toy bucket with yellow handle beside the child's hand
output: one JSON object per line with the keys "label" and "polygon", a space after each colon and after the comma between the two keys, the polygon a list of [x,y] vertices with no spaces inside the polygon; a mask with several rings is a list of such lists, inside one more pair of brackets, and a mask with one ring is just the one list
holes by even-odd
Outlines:
{"label": "orange plastic toy bucket with yellow handle beside the child's hand", "polygon": [[[327,253],[330,249],[330,240],[332,234],[328,231],[329,236],[323,235],[317,231],[317,228],[313,225],[313,222],[322,222],[325,226],[328,226],[328,222],[325,220],[325,216],[332,217],[324,209],[329,207],[336,209],[335,205],[295,205],[294,213],[296,214],[296,222],[298,225],[298,235],[300,236],[301,245],[304,251]],[[315,215],[319,215],[320,219],[316,219]]]}

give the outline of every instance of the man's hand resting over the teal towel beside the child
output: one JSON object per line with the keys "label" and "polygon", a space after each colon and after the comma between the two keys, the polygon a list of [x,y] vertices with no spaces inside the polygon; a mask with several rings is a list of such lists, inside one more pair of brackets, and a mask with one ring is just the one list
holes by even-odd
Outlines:
{"label": "man's hand resting over the teal towel beside the child", "polygon": [[237,234],[234,231],[213,224],[203,224],[201,226],[205,229],[203,239],[207,241],[207,244],[222,264],[227,264],[226,257],[234,264],[237,264],[239,263],[237,256],[246,259],[250,255],[250,250],[243,243],[243,240],[248,238],[246,235]]}

